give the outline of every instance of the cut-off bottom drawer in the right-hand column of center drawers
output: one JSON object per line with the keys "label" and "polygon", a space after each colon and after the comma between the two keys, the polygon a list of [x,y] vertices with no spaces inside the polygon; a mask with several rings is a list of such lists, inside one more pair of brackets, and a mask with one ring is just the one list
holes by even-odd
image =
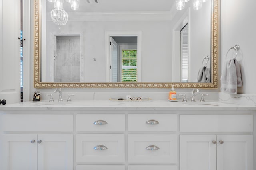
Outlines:
{"label": "cut-off bottom drawer in the right-hand column of center drawers", "polygon": [[178,170],[176,165],[129,165],[128,170]]}

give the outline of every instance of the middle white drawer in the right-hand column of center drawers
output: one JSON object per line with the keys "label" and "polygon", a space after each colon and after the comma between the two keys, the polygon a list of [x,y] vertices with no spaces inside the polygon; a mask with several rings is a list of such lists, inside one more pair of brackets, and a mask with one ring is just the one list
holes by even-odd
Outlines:
{"label": "middle white drawer in the right-hand column of center drawers", "polygon": [[[150,146],[156,146],[150,147]],[[148,149],[146,149],[148,147]],[[128,162],[176,163],[177,135],[128,135]]]}

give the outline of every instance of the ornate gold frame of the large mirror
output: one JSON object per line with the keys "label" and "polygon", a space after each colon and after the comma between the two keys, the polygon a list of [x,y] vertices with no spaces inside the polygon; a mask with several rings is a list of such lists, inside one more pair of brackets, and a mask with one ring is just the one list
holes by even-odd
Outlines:
{"label": "ornate gold frame of the large mirror", "polygon": [[41,0],[34,0],[34,88],[218,88],[218,39],[219,39],[219,6],[220,0],[212,2],[211,18],[211,83],[154,83],[154,82],[95,82],[95,83],[56,83],[40,82],[41,78]]}

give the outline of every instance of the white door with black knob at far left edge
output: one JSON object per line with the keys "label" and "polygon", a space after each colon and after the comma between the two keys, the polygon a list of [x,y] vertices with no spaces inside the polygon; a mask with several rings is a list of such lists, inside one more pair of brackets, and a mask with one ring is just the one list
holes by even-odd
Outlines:
{"label": "white door with black knob at far left edge", "polygon": [[20,0],[0,0],[0,99],[20,102]]}

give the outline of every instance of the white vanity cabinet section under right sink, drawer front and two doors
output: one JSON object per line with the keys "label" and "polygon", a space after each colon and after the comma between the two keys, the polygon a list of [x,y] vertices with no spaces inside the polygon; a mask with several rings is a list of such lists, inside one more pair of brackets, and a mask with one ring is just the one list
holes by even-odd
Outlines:
{"label": "white vanity cabinet section under right sink, drawer front and two doors", "polygon": [[252,120],[252,115],[180,115],[180,131],[190,133],[180,135],[180,170],[253,170],[253,135],[241,134],[252,133]]}

